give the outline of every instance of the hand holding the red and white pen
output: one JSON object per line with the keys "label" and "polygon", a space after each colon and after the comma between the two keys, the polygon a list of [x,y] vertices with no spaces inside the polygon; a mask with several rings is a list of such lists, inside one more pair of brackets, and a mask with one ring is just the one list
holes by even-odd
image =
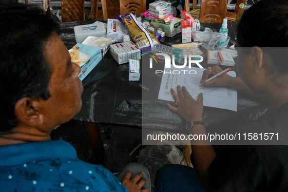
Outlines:
{"label": "hand holding the red and white pen", "polygon": [[220,77],[217,77],[211,81],[205,82],[210,77],[220,73],[223,71],[218,65],[214,67],[209,67],[205,71],[203,71],[202,79],[200,81],[200,84],[203,87],[229,87],[229,83],[231,82],[231,79],[234,77],[231,77],[227,74],[224,74]]}

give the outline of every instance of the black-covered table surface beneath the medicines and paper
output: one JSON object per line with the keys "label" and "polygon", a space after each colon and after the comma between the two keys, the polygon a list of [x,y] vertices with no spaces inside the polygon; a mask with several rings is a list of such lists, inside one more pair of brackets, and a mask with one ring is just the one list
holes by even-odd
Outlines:
{"label": "black-covered table surface beneath the medicines and paper", "polygon": [[[70,49],[76,44],[73,27],[92,22],[60,23],[59,37]],[[201,23],[201,28],[204,27],[210,27],[214,32],[217,32],[221,27],[221,23]],[[228,28],[231,37],[229,45],[232,45],[235,43],[237,24],[229,23]],[[179,33],[172,38],[165,37],[164,41],[161,40],[161,43],[166,45],[181,43],[181,34]],[[213,65],[207,64],[207,52],[204,52],[202,56],[204,61],[201,65],[204,68],[212,67]],[[236,70],[235,66],[233,69]],[[74,119],[185,133],[183,119],[169,111],[166,107],[168,101],[155,99],[158,96],[158,90],[147,88],[141,80],[129,81],[128,76],[128,63],[118,65],[112,58],[110,51],[108,51],[93,71],[83,79],[82,109]],[[160,82],[161,78],[155,77],[155,83],[160,86]],[[142,99],[142,92],[150,92],[152,99]],[[143,120],[144,124],[142,124],[143,103],[145,103],[145,112],[143,112],[145,118],[151,118],[148,121],[147,119]],[[150,107],[147,109],[147,106]],[[232,126],[247,119],[257,118],[265,108],[265,106],[259,105],[251,98],[238,93],[238,112],[204,107],[203,117],[208,128],[214,128],[223,123]]]}

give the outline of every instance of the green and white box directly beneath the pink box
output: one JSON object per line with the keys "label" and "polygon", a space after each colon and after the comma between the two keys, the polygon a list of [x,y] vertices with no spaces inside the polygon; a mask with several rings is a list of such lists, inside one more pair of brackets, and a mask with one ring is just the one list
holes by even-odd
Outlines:
{"label": "green and white box directly beneath the pink box", "polygon": [[181,32],[181,20],[179,18],[174,18],[168,23],[159,23],[156,21],[151,21],[151,23],[160,31],[165,33],[167,37],[173,37],[174,35]]}

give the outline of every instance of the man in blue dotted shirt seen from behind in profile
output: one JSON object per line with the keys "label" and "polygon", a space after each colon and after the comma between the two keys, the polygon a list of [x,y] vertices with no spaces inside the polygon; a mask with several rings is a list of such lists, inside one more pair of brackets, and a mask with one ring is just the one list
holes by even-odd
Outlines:
{"label": "man in blue dotted shirt seen from behind in profile", "polygon": [[80,67],[71,62],[58,25],[31,6],[0,2],[0,191],[141,190],[138,173],[122,183],[101,165],[79,160],[56,125],[81,108]]}

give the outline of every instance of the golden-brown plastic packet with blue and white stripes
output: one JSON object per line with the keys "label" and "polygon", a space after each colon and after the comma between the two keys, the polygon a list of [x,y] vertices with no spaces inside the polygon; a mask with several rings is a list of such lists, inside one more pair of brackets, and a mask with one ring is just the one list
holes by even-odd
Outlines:
{"label": "golden-brown plastic packet with blue and white stripes", "polygon": [[139,49],[143,47],[153,47],[154,44],[160,44],[154,34],[146,30],[141,24],[138,23],[136,17],[133,14],[126,14],[116,16],[121,19],[128,28],[131,38]]}

